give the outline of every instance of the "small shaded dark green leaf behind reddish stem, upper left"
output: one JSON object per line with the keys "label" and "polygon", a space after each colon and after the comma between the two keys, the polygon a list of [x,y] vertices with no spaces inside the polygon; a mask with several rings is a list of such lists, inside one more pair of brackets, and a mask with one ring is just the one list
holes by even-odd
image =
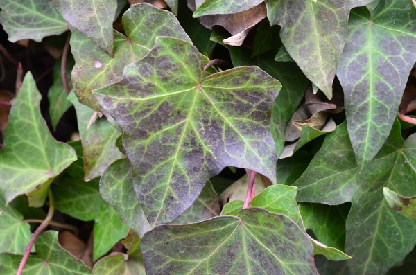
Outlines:
{"label": "small shaded dark green leaf behind reddish stem, upper left", "polygon": [[[69,88],[72,89],[71,71],[75,62],[72,57],[67,58],[67,80]],[[56,125],[60,121],[62,115],[67,112],[69,107],[72,104],[66,100],[68,94],[65,91],[64,85],[62,83],[61,76],[61,59],[55,62],[53,66],[53,85],[49,88],[48,91],[48,100],[49,100],[49,116],[51,116],[51,124],[53,130],[56,130]]]}

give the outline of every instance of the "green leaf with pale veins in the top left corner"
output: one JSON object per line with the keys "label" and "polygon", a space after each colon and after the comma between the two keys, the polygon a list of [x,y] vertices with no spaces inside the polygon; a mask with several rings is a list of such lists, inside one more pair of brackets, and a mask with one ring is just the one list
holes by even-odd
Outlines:
{"label": "green leaf with pale veins in the top left corner", "polygon": [[11,42],[41,42],[46,36],[60,35],[68,29],[67,21],[48,0],[2,0],[0,9],[0,23]]}

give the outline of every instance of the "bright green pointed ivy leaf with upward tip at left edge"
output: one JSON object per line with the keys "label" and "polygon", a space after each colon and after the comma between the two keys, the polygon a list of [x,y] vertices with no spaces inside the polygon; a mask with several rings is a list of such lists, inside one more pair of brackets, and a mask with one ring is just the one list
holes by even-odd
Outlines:
{"label": "bright green pointed ivy leaf with upward tip at left edge", "polygon": [[0,189],[6,203],[40,188],[76,160],[71,146],[51,136],[40,114],[40,98],[33,76],[27,73],[10,110],[0,150]]}

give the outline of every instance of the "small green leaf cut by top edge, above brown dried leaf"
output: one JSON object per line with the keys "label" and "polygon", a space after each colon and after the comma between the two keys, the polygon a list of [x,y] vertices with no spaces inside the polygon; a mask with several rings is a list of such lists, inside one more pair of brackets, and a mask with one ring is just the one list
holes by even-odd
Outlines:
{"label": "small green leaf cut by top edge, above brown dried leaf", "polygon": [[204,15],[227,15],[242,12],[263,3],[264,0],[205,0],[195,12],[193,17]]}

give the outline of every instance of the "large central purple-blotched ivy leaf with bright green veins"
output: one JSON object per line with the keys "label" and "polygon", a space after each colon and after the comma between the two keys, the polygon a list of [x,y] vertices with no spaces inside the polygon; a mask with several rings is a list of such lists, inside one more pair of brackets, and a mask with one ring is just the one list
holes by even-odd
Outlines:
{"label": "large central purple-blotched ivy leaf with bright green veins", "polygon": [[123,129],[152,226],[177,218],[227,166],[275,181],[270,110],[280,83],[255,66],[203,73],[194,46],[157,37],[146,57],[125,67],[123,80],[94,92]]}

